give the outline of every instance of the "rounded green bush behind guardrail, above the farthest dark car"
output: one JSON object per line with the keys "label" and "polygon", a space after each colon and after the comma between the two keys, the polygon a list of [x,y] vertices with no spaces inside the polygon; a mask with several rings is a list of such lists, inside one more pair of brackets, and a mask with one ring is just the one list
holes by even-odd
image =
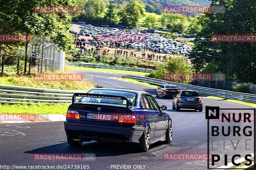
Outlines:
{"label": "rounded green bush behind guardrail, above the farthest dark car", "polygon": [[148,77],[163,79],[165,73],[192,73],[190,65],[182,57],[167,57]]}

